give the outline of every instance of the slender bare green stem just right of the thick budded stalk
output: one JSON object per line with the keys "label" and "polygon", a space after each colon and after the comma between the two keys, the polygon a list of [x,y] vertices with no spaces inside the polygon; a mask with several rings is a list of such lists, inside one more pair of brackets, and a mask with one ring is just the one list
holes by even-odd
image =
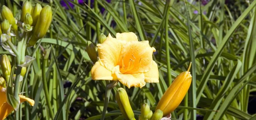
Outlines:
{"label": "slender bare green stem just right of the thick budded stalk", "polygon": [[43,62],[42,62],[42,82],[43,82],[43,88],[44,88],[44,93],[45,93],[45,101],[46,101],[46,104],[47,104],[49,112],[50,112],[50,117],[53,120],[54,119],[54,114],[53,114],[53,110],[52,110],[51,101],[50,101],[50,98],[49,98],[49,93],[48,93],[48,88],[47,88],[47,81],[46,81],[46,72],[45,72],[46,60],[47,59],[43,59]]}

